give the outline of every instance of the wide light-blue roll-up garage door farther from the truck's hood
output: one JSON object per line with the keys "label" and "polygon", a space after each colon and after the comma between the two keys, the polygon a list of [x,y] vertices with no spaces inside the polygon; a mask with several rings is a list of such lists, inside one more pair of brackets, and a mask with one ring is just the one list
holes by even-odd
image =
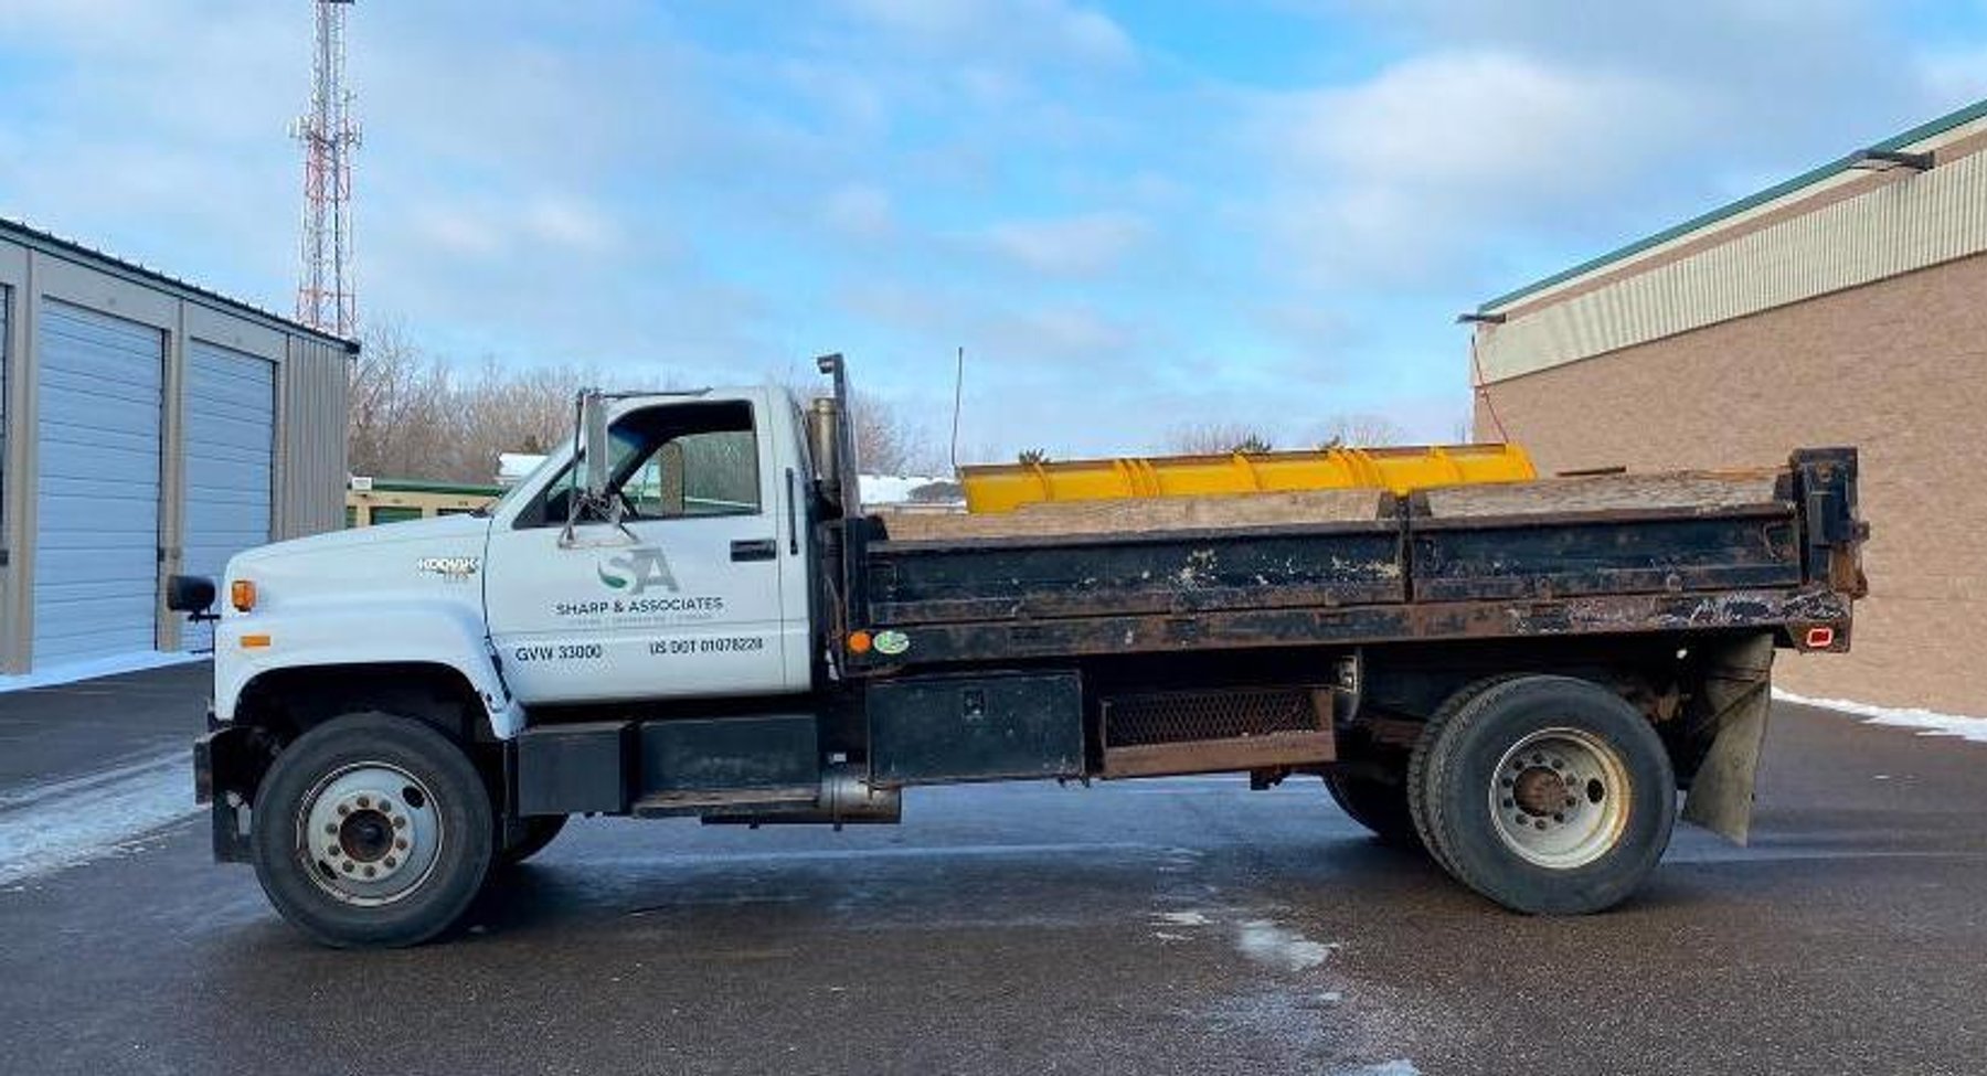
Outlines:
{"label": "wide light-blue roll-up garage door farther from the truck's hood", "polygon": [[34,663],[153,649],[165,337],[44,302]]}

